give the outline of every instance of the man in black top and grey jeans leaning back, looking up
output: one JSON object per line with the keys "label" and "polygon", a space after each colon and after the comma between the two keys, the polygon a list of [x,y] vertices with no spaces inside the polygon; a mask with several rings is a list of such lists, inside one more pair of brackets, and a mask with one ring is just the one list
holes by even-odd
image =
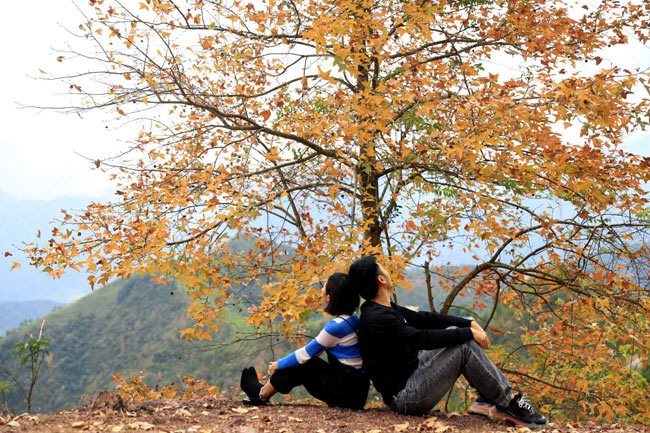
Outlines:
{"label": "man in black top and grey jeans leaning back, looking up", "polygon": [[483,351],[490,340],[478,323],[391,303],[390,274],[375,257],[356,260],[348,276],[366,300],[358,331],[363,366],[391,409],[424,414],[462,374],[480,395],[473,412],[529,428],[548,424],[525,395],[513,396],[508,380]]}

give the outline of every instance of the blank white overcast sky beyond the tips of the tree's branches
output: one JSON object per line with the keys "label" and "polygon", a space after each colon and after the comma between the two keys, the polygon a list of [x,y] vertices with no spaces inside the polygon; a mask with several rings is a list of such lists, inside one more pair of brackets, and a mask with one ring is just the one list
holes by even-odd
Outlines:
{"label": "blank white overcast sky beyond the tips of the tree's branches", "polygon": [[[85,5],[85,0],[79,0]],[[7,19],[0,26],[0,191],[15,198],[53,199],[60,196],[107,196],[110,183],[93,165],[76,155],[106,156],[124,148],[125,130],[102,121],[101,112],[63,115],[53,111],[21,109],[18,103],[61,105],[60,83],[39,81],[39,68],[60,68],[54,48],[63,48],[70,35],[61,27],[76,28],[81,18],[70,0],[37,0],[3,3]],[[632,68],[650,68],[650,47],[638,42],[609,50],[605,62]],[[507,65],[498,65],[509,68]],[[505,72],[505,70],[504,70]],[[109,115],[110,116],[110,115]],[[109,128],[107,129],[106,126]],[[637,133],[627,140],[629,149],[648,155],[650,133]]]}

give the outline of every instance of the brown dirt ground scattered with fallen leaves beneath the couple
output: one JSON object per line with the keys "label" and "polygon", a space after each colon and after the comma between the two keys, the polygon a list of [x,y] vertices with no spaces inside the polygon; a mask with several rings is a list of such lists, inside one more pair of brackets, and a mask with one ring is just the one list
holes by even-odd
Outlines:
{"label": "brown dirt ground scattered with fallen leaves beneath the couple", "polygon": [[[0,433],[76,432],[159,433],[496,433],[529,432],[476,415],[431,412],[397,415],[385,408],[365,411],[332,409],[316,404],[283,403],[263,407],[239,401],[202,398],[156,400],[127,407],[113,394],[102,393],[86,405],[52,414],[0,418]],[[650,433],[650,427],[556,424],[544,433]]]}

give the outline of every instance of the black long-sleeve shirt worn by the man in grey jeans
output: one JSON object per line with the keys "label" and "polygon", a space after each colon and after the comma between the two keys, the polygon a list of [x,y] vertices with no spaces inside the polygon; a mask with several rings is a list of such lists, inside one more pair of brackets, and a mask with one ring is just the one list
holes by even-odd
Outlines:
{"label": "black long-sleeve shirt worn by the man in grey jeans", "polygon": [[[387,405],[418,366],[420,350],[470,341],[471,321],[462,317],[417,312],[373,301],[361,306],[359,343],[363,367]],[[454,329],[445,329],[456,326]]]}

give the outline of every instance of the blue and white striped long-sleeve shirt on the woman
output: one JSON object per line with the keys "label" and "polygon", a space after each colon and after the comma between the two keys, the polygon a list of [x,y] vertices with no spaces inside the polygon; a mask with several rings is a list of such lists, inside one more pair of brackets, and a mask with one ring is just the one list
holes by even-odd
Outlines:
{"label": "blue and white striped long-sleeve shirt on the woman", "polygon": [[341,314],[327,322],[322,331],[304,347],[278,361],[278,368],[285,369],[304,364],[318,356],[323,350],[339,360],[341,364],[361,368],[361,348],[356,330],[359,316]]}

